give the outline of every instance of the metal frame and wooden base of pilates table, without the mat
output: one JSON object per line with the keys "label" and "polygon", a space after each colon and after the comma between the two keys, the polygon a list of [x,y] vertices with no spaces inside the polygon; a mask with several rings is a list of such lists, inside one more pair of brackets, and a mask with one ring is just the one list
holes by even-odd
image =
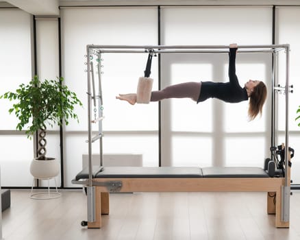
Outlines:
{"label": "metal frame and wooden base of pilates table, without the mat", "polygon": [[[108,214],[108,193],[111,191],[266,191],[267,197],[267,212],[269,214],[276,213],[275,226],[277,228],[288,228],[290,219],[290,167],[288,165],[288,157],[286,157],[285,163],[285,177],[281,178],[268,178],[262,176],[240,176],[240,174],[228,175],[209,175],[205,177],[205,171],[207,169],[199,169],[202,174],[200,178],[195,176],[180,176],[178,177],[171,175],[164,175],[160,177],[158,174],[154,176],[147,175],[145,177],[126,176],[119,174],[112,174],[108,177],[101,176],[100,168],[95,173],[95,169],[92,167],[92,143],[99,140],[100,147],[100,165],[103,160],[103,149],[102,149],[102,119],[103,119],[103,108],[102,108],[102,93],[101,93],[101,56],[103,53],[147,53],[153,51],[154,53],[227,53],[227,45],[174,45],[174,46],[163,46],[163,45],[146,45],[146,46],[127,46],[127,45],[87,45],[87,82],[88,82],[88,169],[87,172],[83,173],[82,176],[72,180],[73,184],[84,184],[87,188],[87,199],[88,199],[88,228],[100,228],[101,227],[101,213]],[[272,116],[271,116],[271,145],[275,145],[275,125],[276,125],[276,107],[275,107],[275,92],[284,91],[286,110],[285,110],[285,156],[290,156],[289,145],[288,145],[288,101],[290,93],[289,85],[289,53],[290,45],[239,45],[239,53],[258,53],[258,52],[269,52],[273,54],[273,77],[272,77]],[[284,51],[286,53],[286,86],[275,86],[277,83],[277,57],[278,52]],[[99,80],[99,93],[95,93],[95,77],[94,67],[91,59],[96,56],[99,61],[98,64],[98,80]],[[91,86],[92,84],[92,86]],[[99,132],[97,136],[92,137],[92,108],[94,104],[97,106],[96,100],[99,101],[99,116],[96,121],[99,124]],[[94,170],[94,171],[93,171]],[[157,170],[161,170],[158,169]],[[190,171],[190,169],[182,169]],[[232,169],[229,169],[231,171]],[[236,169],[233,169],[234,171]],[[110,171],[110,170],[108,170]],[[121,169],[122,171],[122,169]],[[155,170],[156,171],[156,170]],[[164,171],[164,169],[162,169]],[[192,169],[195,171],[195,169]],[[198,170],[197,170],[198,171]],[[217,171],[223,171],[217,169]],[[226,170],[227,171],[227,170]],[[134,173],[135,174],[135,173]],[[79,174],[80,175],[80,174]],[[99,175],[99,178],[97,177]],[[184,174],[185,175],[185,174]],[[116,176],[116,177],[114,177]],[[275,195],[275,200],[273,198]]]}

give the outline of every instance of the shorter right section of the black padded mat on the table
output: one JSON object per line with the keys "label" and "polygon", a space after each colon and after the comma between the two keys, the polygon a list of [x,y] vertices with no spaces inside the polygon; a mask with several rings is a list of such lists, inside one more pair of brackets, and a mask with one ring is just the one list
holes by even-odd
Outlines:
{"label": "shorter right section of the black padded mat on the table", "polygon": [[203,178],[268,178],[260,167],[203,167]]}

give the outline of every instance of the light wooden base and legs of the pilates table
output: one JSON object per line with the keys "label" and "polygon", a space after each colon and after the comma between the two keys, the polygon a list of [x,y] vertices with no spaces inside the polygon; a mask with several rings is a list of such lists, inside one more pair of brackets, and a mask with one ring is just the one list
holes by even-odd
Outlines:
{"label": "light wooden base and legs of the pilates table", "polygon": [[[276,228],[289,228],[282,221],[284,178],[95,178],[97,182],[120,181],[120,192],[266,192],[267,213],[275,214]],[[101,228],[101,214],[109,214],[109,190],[96,188],[96,221],[88,228]]]}

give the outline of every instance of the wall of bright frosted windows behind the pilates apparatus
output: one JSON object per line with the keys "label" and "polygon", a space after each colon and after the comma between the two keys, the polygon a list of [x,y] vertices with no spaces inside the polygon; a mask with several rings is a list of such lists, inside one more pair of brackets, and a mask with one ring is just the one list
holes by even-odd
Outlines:
{"label": "wall of bright frosted windows behind the pilates apparatus", "polygon": [[[300,8],[278,7],[275,16],[276,43],[291,46],[290,84],[294,86],[294,93],[290,95],[289,105],[290,146],[297,148],[299,127],[295,112],[300,105],[297,98],[300,35],[295,29],[300,25]],[[71,121],[64,128],[64,187],[77,187],[71,184],[71,179],[82,169],[82,155],[88,153],[86,45],[158,45],[159,37],[161,45],[270,45],[273,36],[272,6],[76,7],[62,8],[60,18],[62,77],[84,103],[84,108],[76,109],[79,123]],[[42,78],[55,77],[52,74],[57,74],[59,69],[55,62],[59,53],[57,26],[57,20],[36,21],[36,65]],[[31,79],[33,31],[32,15],[17,9],[0,9],[0,95]],[[49,38],[51,43],[47,43]],[[285,84],[284,61],[285,54],[279,53],[278,79],[282,86]],[[147,53],[101,55],[104,154],[142,154],[144,166],[158,166],[160,156],[163,166],[263,165],[264,158],[270,156],[271,91],[268,91],[262,117],[254,121],[247,119],[247,101],[225,104],[218,99],[208,99],[196,104],[190,99],[167,99],[161,104],[131,106],[116,100],[118,93],[136,91],[146,62]],[[227,68],[227,53],[162,54],[160,62],[153,58],[153,90],[188,81],[227,82]],[[263,80],[270,89],[272,56],[270,53],[238,53],[236,71],[241,86],[249,79]],[[279,144],[284,142],[284,95],[277,94],[277,102],[276,140]],[[10,106],[10,102],[1,99],[2,184],[29,187],[34,145],[25,134],[15,130],[17,120],[8,114]],[[51,145],[48,152],[60,158],[58,128],[53,130],[47,135],[48,145]],[[92,125],[92,130],[97,134],[97,125]],[[98,142],[93,144],[92,152],[99,153]],[[18,171],[16,175],[15,166],[27,170]],[[294,182],[300,182],[299,167],[294,160]]]}

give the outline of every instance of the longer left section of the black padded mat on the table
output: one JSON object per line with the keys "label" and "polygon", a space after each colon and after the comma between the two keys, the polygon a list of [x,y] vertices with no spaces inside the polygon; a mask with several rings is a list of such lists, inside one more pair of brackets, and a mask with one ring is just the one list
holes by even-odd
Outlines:
{"label": "longer left section of the black padded mat on the table", "polygon": [[104,167],[96,178],[202,178],[199,167]]}

